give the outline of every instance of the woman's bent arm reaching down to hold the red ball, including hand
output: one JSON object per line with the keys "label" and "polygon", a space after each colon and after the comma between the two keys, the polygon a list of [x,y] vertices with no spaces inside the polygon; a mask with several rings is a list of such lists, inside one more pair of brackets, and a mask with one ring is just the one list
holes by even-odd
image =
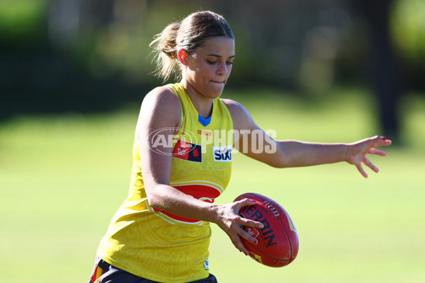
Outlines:
{"label": "woman's bent arm reaching down to hold the red ball, including hand", "polygon": [[140,144],[140,156],[143,156],[140,158],[140,166],[147,201],[152,207],[171,214],[217,224],[227,233],[234,246],[247,254],[248,250],[242,244],[239,236],[252,243],[256,239],[249,236],[241,226],[261,228],[263,224],[242,218],[239,216],[239,209],[255,202],[241,200],[230,204],[211,204],[186,195],[169,184],[171,146],[157,143],[155,144],[156,150],[151,150],[154,145],[151,133],[164,128],[174,129],[174,131],[162,132],[165,134],[164,140],[169,141],[171,140],[169,137],[179,132],[180,125],[181,106],[174,91],[163,86],[154,88],[147,94],[142,103],[136,128],[136,138]]}

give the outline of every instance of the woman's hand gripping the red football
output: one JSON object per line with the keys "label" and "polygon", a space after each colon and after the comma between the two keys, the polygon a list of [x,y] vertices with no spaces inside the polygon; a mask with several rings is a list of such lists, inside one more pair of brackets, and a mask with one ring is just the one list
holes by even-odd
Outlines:
{"label": "woman's hand gripping the red football", "polygon": [[242,207],[247,205],[254,205],[256,202],[249,199],[239,200],[237,202],[232,202],[229,204],[222,204],[218,208],[218,219],[214,221],[223,231],[227,233],[233,245],[240,250],[245,255],[248,255],[249,252],[246,250],[244,244],[242,243],[242,238],[245,238],[247,241],[254,243],[256,245],[257,240],[253,236],[250,236],[242,226],[256,227],[258,229],[263,228],[261,222],[257,222],[250,219],[245,219],[242,216],[239,216],[239,210]]}

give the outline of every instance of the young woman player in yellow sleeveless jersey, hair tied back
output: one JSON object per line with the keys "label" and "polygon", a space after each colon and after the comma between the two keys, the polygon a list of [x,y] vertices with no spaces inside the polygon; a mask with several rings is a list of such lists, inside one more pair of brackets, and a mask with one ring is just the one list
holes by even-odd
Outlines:
{"label": "young woman player in yellow sleeveless jersey, hair tied back", "polygon": [[238,212],[254,203],[213,203],[229,182],[232,148],[278,168],[346,161],[365,177],[362,163],[378,172],[366,154],[385,156],[375,149],[391,144],[385,137],[352,144],[278,141],[242,105],[220,99],[235,57],[222,16],[192,13],[151,46],[159,76],[177,71],[181,81],[154,88],[142,102],[129,195],[101,240],[90,282],[217,282],[208,270],[210,222],[248,254],[241,237],[256,239],[241,226],[262,224]]}

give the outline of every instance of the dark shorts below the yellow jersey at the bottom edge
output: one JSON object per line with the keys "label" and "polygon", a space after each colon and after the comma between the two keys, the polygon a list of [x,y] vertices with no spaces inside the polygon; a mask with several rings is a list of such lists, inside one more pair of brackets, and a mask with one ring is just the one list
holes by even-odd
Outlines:
{"label": "dark shorts below the yellow jersey at the bottom edge", "polygon": [[[113,265],[110,265],[105,260],[96,256],[96,262],[94,263],[93,272],[89,283],[160,283],[152,281],[136,275],[132,275],[125,270],[121,270]],[[210,274],[205,279],[199,279],[188,283],[217,283],[215,276]]]}

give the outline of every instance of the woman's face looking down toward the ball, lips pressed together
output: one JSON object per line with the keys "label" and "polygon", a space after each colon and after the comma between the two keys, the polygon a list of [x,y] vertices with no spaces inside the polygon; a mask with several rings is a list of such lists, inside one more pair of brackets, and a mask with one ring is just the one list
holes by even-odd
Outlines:
{"label": "woman's face looking down toward the ball, lips pressed together", "polygon": [[206,98],[221,96],[234,59],[234,40],[210,37],[193,54],[188,54],[183,79]]}

